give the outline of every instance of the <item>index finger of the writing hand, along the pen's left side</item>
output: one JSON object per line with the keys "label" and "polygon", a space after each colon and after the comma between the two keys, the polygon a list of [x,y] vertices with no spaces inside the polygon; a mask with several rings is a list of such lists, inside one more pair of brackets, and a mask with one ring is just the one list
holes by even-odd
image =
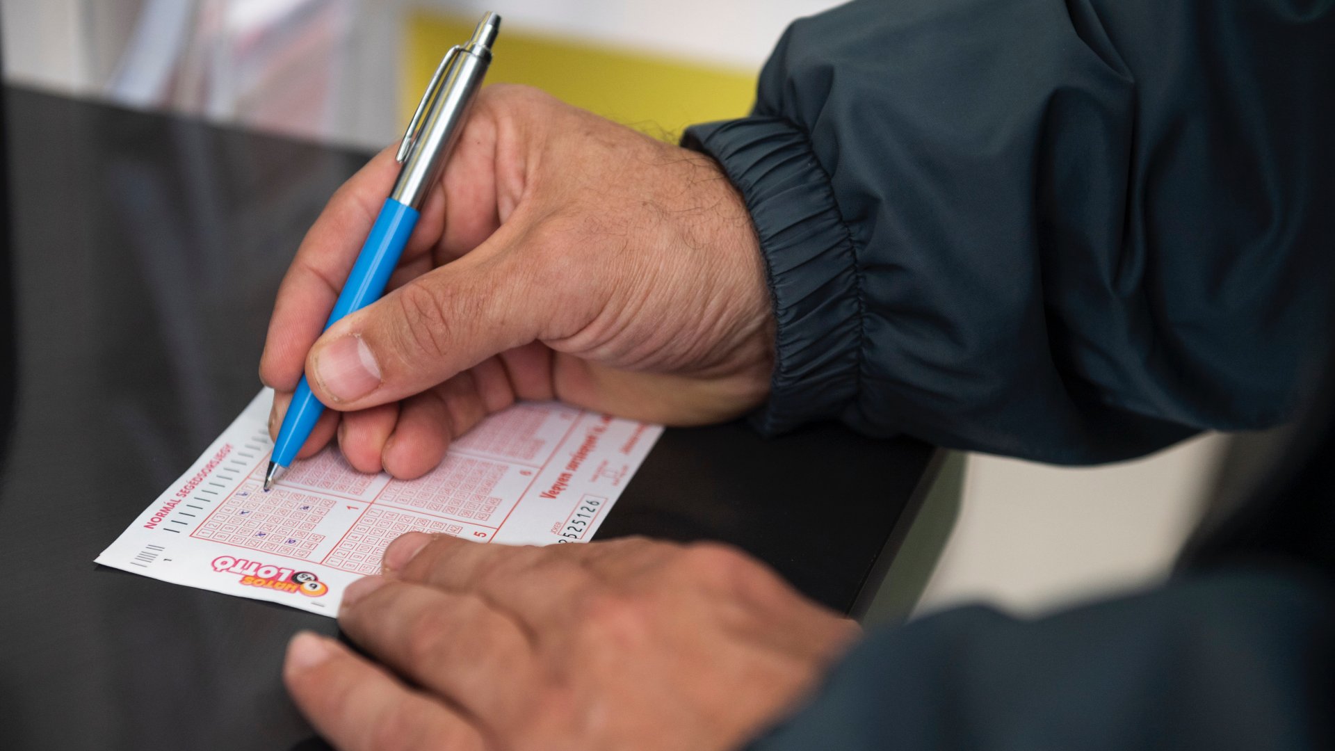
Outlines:
{"label": "index finger of the writing hand, along the pen's left side", "polygon": [[[398,168],[392,147],[376,154],[334,192],[306,233],[278,287],[274,315],[268,321],[264,353],[259,359],[259,377],[264,384],[279,392],[296,389],[306,354],[324,330],[384,196],[394,187]],[[439,195],[433,198],[442,199]],[[431,249],[441,235],[441,222],[439,211],[422,211],[403,249],[402,262]]]}

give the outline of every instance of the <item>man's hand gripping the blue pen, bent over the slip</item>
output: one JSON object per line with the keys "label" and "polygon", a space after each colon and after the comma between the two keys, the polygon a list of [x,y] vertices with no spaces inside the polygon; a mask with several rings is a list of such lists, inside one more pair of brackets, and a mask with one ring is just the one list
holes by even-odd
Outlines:
{"label": "man's hand gripping the blue pen, bent over the slip", "polygon": [[311,227],[260,359],[303,370],[359,470],[417,477],[517,398],[674,425],[728,420],[769,393],[773,321],[750,216],[710,159],[538,91],[489,87],[390,281],[320,335],[398,164],[386,150]]}

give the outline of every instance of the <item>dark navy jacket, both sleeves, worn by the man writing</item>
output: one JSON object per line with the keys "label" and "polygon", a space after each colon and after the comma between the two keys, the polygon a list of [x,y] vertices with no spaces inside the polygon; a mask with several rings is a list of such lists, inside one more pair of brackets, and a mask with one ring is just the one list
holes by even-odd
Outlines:
{"label": "dark navy jacket, both sleeves, worn by the man writing", "polygon": [[[758,425],[1096,462],[1283,420],[1324,349],[1332,5],[894,0],[796,23],[753,115],[686,139],[768,263]],[[1335,746],[1335,414],[1312,413],[1296,465],[1167,585],[873,633],[754,747]]]}

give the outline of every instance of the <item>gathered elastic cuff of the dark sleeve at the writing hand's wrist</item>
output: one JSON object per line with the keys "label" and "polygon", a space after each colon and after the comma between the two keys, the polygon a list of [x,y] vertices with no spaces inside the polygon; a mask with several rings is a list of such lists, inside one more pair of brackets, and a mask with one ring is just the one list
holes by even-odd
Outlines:
{"label": "gathered elastic cuff of the dark sleeve at the writing hand's wrist", "polygon": [[858,390],[862,315],[857,259],[829,175],[805,132],[782,118],[694,126],[682,146],[709,154],[741,191],[760,237],[774,303],[768,434],[841,416]]}

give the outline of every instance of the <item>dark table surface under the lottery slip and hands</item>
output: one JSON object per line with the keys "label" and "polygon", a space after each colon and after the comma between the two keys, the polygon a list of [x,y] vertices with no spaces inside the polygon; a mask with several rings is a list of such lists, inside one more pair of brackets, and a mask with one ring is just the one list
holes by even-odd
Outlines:
{"label": "dark table surface under the lottery slip and hands", "polygon": [[[367,158],[8,90],[0,748],[319,747],[279,682],[332,619],[93,557],[259,389],[278,281]],[[598,532],[714,539],[858,613],[934,466],[834,425],[668,430]]]}

